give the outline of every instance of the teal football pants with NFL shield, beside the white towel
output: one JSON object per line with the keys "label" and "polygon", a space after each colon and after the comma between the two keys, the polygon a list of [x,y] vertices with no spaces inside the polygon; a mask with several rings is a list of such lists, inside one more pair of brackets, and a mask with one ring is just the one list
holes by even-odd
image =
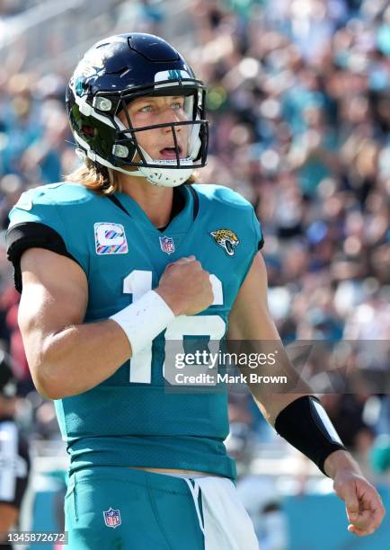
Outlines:
{"label": "teal football pants with NFL shield, beside the white towel", "polygon": [[71,550],[204,550],[190,488],[178,477],[106,466],[75,472],[65,516]]}

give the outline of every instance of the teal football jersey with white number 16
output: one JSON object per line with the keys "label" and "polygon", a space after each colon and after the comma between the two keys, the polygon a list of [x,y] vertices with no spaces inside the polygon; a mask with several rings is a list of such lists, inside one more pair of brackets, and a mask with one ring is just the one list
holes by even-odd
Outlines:
{"label": "teal football jersey with white number 16", "polygon": [[81,395],[55,402],[71,470],[89,466],[184,468],[235,477],[227,456],[226,391],[166,391],[165,336],[220,339],[262,245],[253,207],[217,185],[184,185],[183,208],[164,231],[129,195],[114,199],[77,183],[22,194],[10,213],[8,254],[21,288],[19,260],[42,246],[79,264],[88,279],[85,323],[108,318],[155,288],[166,265],[194,254],[213,275],[215,300],[199,315],[174,319],[146,349]]}

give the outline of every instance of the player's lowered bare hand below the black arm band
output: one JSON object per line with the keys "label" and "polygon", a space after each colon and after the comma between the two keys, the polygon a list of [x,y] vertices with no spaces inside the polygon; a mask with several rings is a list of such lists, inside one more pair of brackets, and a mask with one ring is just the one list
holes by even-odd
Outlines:
{"label": "player's lowered bare hand below the black arm band", "polygon": [[333,488],[345,502],[350,533],[360,537],[374,533],[386,513],[375,487],[363,475],[342,469],[334,477]]}

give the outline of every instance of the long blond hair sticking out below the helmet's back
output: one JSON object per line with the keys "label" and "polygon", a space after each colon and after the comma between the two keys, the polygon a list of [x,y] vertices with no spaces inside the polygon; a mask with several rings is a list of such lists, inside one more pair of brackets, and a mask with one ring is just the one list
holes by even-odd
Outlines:
{"label": "long blond hair sticking out below the helmet's back", "polygon": [[[84,164],[72,173],[67,174],[65,181],[81,183],[84,187],[95,191],[99,195],[113,195],[117,191],[122,191],[116,170],[94,164],[89,158],[86,158]],[[196,181],[196,173],[193,173],[185,183],[188,185]]]}

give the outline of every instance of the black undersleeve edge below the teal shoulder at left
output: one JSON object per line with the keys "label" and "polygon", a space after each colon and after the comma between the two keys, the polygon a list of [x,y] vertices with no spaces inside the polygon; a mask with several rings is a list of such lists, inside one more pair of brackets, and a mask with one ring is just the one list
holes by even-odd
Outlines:
{"label": "black undersleeve edge below the teal shoulder at left", "polygon": [[29,248],[46,248],[77,262],[75,257],[66,250],[62,236],[52,227],[38,222],[23,222],[10,227],[5,235],[5,243],[8,260],[13,263],[15,288],[19,292],[22,292],[21,257],[22,253]]}

